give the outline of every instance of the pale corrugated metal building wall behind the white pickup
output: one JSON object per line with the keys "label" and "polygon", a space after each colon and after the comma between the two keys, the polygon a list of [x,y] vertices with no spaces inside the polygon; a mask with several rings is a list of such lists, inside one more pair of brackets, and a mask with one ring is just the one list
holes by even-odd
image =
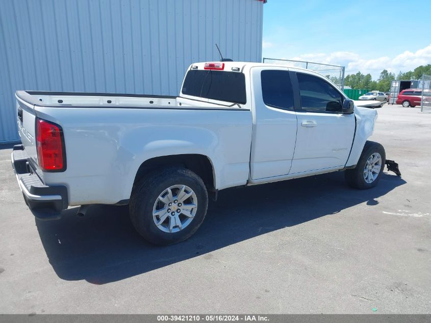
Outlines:
{"label": "pale corrugated metal building wall behind the white pickup", "polygon": [[2,0],[0,142],[16,90],[170,94],[192,62],[260,62],[258,0]]}

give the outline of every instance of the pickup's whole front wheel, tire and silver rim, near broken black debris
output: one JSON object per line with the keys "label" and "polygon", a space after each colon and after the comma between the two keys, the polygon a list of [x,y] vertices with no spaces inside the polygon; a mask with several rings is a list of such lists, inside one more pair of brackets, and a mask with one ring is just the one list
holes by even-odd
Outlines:
{"label": "pickup's whole front wheel, tire and silver rim, near broken black debris", "polygon": [[358,189],[374,187],[382,176],[385,162],[385,148],[377,142],[367,141],[356,167],[344,173],[347,184]]}

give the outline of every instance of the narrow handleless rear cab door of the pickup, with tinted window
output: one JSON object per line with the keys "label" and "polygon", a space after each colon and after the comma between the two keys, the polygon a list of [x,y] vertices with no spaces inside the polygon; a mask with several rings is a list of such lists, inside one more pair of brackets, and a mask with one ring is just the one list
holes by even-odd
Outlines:
{"label": "narrow handleless rear cab door of the pickup, with tinted window", "polygon": [[296,113],[289,70],[251,68],[253,126],[250,177],[253,180],[287,175],[296,141]]}

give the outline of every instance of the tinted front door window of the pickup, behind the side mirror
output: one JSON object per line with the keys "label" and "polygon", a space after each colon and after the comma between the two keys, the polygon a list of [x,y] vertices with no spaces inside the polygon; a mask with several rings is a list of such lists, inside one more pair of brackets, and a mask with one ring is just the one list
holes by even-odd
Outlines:
{"label": "tinted front door window of the pickup, behind the side mirror", "polygon": [[296,73],[301,109],[309,112],[340,112],[343,97],[331,84],[310,74]]}

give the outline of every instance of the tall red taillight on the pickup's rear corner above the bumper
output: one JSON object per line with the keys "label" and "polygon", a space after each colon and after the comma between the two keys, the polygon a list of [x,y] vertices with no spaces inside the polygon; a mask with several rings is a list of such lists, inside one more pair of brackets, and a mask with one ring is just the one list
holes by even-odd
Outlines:
{"label": "tall red taillight on the pickup's rear corner above the bumper", "polygon": [[63,130],[59,125],[36,119],[36,146],[39,166],[45,171],[66,169]]}

